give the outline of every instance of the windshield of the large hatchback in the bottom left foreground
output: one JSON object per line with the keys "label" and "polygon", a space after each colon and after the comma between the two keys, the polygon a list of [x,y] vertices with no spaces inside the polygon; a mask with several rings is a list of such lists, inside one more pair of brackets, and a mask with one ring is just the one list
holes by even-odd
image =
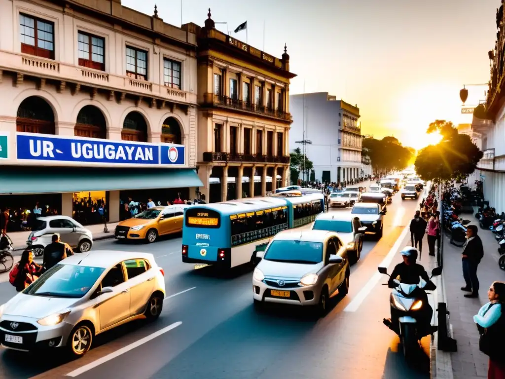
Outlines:
{"label": "windshield of the large hatchback in the bottom left foreground", "polygon": [[82,298],[105,271],[102,267],[57,264],[23,291],[26,295]]}

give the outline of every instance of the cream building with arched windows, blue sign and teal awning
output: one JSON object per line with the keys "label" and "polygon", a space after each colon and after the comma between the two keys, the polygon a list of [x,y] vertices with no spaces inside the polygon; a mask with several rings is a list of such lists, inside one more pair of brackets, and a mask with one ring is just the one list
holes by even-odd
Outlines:
{"label": "cream building with arched windows, blue sign and teal awning", "polygon": [[102,201],[112,222],[193,197],[196,89],[196,35],[156,9],[3,0],[0,208],[90,224]]}

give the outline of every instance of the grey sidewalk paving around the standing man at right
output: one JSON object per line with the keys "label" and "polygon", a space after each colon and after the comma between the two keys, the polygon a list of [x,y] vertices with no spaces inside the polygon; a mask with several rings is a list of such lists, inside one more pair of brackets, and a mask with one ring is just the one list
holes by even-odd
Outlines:
{"label": "grey sidewalk paving around the standing man at right", "polygon": [[[478,226],[473,215],[466,218],[472,220],[471,224]],[[467,292],[461,291],[461,287],[465,286],[461,264],[462,248],[451,245],[448,236],[444,236],[443,275],[446,302],[453,338],[458,342],[458,351],[450,353],[455,379],[487,378],[488,357],[479,350],[479,333],[473,316],[488,302],[489,285],[494,280],[503,279],[503,271],[498,267],[498,244],[494,234],[479,227],[478,235],[484,246],[484,258],[477,270],[480,281],[478,299],[467,299],[463,296]]]}

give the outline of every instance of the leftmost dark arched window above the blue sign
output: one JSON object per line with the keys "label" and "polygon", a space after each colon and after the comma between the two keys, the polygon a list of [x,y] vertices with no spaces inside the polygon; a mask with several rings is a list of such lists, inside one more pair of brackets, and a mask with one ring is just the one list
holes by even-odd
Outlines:
{"label": "leftmost dark arched window above the blue sign", "polygon": [[38,96],[30,96],[19,105],[16,130],[26,133],[55,134],[55,114]]}

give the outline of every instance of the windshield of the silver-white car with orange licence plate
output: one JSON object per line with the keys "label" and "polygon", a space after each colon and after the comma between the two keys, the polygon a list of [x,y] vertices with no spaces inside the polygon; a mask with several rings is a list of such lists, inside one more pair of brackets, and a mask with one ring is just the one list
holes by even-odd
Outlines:
{"label": "windshield of the silver-white car with orange licence plate", "polygon": [[306,241],[272,241],[263,259],[275,262],[316,264],[323,260],[323,244]]}

